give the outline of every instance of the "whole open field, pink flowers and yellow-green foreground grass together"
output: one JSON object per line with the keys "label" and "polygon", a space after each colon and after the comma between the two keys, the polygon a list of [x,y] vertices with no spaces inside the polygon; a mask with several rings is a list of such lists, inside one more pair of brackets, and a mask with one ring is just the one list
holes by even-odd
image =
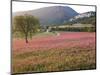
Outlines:
{"label": "whole open field, pink flowers and yellow-green foreground grass together", "polygon": [[95,69],[95,50],[95,32],[41,33],[28,44],[13,38],[12,72]]}

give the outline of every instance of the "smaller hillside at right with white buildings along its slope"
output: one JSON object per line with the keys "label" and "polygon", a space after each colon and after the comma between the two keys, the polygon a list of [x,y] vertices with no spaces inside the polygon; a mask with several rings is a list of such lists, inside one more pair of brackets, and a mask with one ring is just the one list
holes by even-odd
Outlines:
{"label": "smaller hillside at right with white buildings along its slope", "polygon": [[79,14],[73,18],[71,18],[69,21],[67,21],[65,24],[75,24],[75,23],[82,23],[82,24],[96,24],[96,12],[90,11],[86,13]]}

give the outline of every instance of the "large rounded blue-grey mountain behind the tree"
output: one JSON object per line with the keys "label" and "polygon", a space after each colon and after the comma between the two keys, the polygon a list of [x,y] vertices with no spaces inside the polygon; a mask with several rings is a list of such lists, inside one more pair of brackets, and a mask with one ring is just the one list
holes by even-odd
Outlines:
{"label": "large rounded blue-grey mountain behind the tree", "polygon": [[37,17],[41,25],[62,24],[64,21],[78,15],[78,13],[68,6],[50,6],[40,9],[16,12],[13,16],[29,14]]}

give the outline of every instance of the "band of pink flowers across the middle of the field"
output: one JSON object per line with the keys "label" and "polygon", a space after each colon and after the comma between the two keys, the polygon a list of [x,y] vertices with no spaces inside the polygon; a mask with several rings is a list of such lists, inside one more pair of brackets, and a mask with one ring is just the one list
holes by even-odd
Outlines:
{"label": "band of pink flowers across the middle of the field", "polygon": [[95,33],[88,32],[69,32],[61,33],[59,36],[46,36],[33,38],[29,44],[23,39],[14,39],[13,49],[50,49],[50,48],[68,48],[68,47],[86,47],[95,45]]}

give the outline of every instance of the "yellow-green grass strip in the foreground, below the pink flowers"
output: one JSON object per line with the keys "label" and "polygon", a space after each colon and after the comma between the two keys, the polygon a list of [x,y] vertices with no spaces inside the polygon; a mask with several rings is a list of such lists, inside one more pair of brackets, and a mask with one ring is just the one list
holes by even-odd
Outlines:
{"label": "yellow-green grass strip in the foreground, below the pink flowers", "polygon": [[95,69],[95,49],[63,48],[13,53],[13,73]]}

